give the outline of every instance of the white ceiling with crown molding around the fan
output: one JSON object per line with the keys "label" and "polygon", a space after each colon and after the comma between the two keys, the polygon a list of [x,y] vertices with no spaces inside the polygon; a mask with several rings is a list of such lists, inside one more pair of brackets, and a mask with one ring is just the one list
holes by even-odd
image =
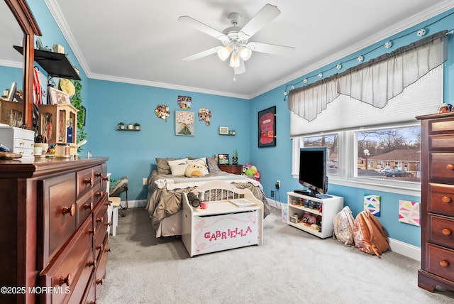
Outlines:
{"label": "white ceiling with crown molding around the fan", "polygon": [[[45,2],[88,77],[246,99],[454,7],[453,0]],[[216,54],[182,60],[221,42],[180,23],[179,16],[223,31],[231,26],[228,13],[240,13],[242,27],[267,3],[281,14],[249,41],[292,46],[294,55],[255,52],[236,81],[228,60],[223,62]],[[3,39],[5,33],[0,34]],[[45,34],[44,45],[57,43],[45,41]]]}

